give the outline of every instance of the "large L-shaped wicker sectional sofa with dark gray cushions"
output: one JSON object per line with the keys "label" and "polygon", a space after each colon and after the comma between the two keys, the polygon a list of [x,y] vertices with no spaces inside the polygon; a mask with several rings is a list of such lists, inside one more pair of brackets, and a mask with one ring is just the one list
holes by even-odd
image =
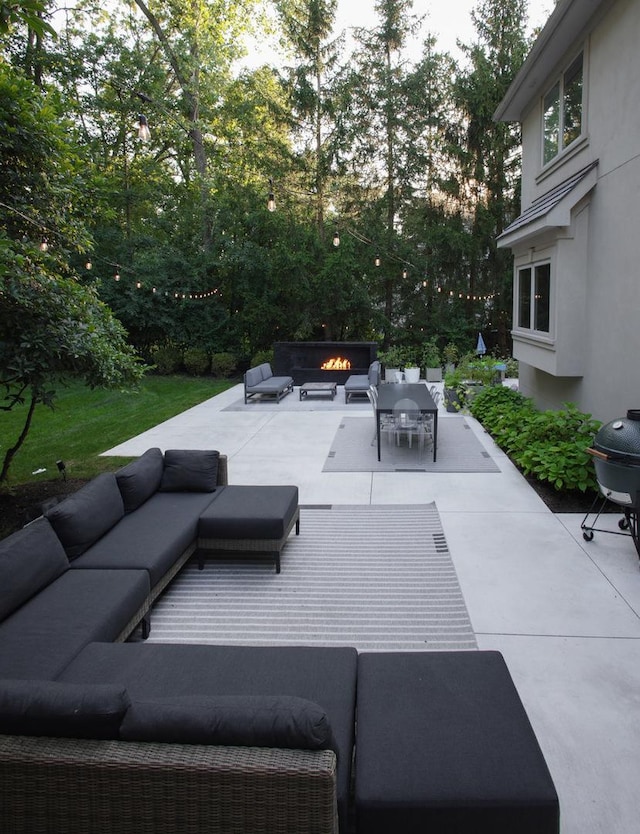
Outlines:
{"label": "large L-shaped wicker sectional sofa with dark gray cushions", "polygon": [[[496,652],[125,642],[233,495],[225,464],[149,450],[0,542],[3,834],[556,834]],[[279,547],[297,527],[283,489],[280,526],[238,493]]]}

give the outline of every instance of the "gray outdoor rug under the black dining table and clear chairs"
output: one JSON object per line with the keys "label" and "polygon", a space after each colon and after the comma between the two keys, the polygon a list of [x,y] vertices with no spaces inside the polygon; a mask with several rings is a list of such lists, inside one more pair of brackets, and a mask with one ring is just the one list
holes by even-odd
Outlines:
{"label": "gray outdoor rug under the black dining table and clear chairs", "polygon": [[[381,460],[375,440],[375,421],[345,417],[336,431],[323,472],[499,472],[489,452],[475,436],[464,417],[438,416],[438,454],[425,443],[422,452],[414,439],[397,446],[383,434]],[[372,442],[373,441],[373,442]]]}

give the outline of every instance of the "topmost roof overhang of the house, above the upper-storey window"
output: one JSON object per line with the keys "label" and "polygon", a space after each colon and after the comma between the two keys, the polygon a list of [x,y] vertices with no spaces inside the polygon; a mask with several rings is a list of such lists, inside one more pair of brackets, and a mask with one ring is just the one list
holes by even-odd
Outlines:
{"label": "topmost roof overhang of the house, above the upper-storey window", "polygon": [[493,114],[496,122],[521,122],[531,102],[543,92],[553,72],[589,23],[615,0],[558,0],[520,71]]}

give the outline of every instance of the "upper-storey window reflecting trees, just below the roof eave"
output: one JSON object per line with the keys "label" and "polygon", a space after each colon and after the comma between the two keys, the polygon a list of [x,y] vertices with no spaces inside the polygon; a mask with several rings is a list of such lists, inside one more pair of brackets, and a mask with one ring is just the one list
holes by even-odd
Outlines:
{"label": "upper-storey window reflecting trees, just below the roof eave", "polygon": [[546,165],[582,134],[583,53],[547,92],[542,107],[542,159]]}

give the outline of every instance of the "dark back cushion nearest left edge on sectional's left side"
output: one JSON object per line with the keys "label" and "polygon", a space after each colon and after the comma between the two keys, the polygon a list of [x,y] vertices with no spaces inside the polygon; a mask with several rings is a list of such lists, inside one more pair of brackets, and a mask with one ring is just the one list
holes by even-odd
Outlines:
{"label": "dark back cushion nearest left edge on sectional's left side", "polygon": [[0,541],[0,620],[68,567],[60,540],[44,518]]}

